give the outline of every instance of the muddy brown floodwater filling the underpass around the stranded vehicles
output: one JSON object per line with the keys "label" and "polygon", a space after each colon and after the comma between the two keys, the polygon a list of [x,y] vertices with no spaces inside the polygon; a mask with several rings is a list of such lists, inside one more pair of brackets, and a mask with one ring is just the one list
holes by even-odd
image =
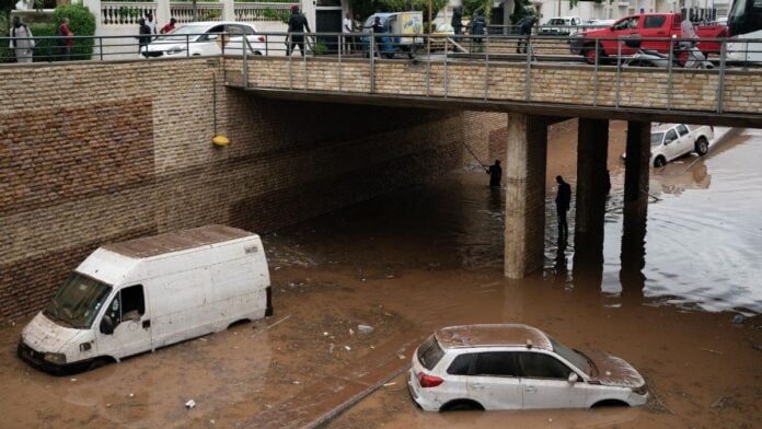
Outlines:
{"label": "muddy brown floodwater filling the underpass around the stranded vehicles", "polygon": [[[15,358],[25,321],[3,328],[0,426],[760,427],[762,132],[728,135],[697,162],[689,155],[651,172],[635,275],[623,275],[621,260],[624,124],[611,130],[612,192],[594,273],[575,270],[575,251],[585,250],[555,243],[552,178],[562,174],[574,189],[576,173],[576,139],[563,136],[549,147],[542,274],[504,278],[504,192],[478,170],[453,172],[266,234],[276,311],[267,320],[66,378]],[[653,399],[640,408],[419,410],[404,375],[389,378],[426,335],[473,323],[527,323],[610,351],[644,374]],[[196,407],[185,407],[189,399]]]}

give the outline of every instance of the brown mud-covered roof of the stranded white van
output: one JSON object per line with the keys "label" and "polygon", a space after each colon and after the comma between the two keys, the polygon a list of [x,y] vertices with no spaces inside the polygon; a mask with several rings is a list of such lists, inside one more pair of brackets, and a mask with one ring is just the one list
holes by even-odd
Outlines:
{"label": "brown mud-covered roof of the stranded white van", "polygon": [[208,225],[107,244],[102,248],[127,257],[145,258],[251,235],[255,234],[238,228]]}

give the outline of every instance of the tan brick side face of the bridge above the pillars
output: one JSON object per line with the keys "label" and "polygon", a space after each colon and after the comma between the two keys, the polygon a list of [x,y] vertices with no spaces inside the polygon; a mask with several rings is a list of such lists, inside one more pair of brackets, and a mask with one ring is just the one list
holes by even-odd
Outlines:
{"label": "tan brick side face of the bridge above the pillars", "polygon": [[[241,61],[228,61],[231,80],[240,81]],[[368,93],[368,60],[309,58],[307,61],[263,57],[249,61],[249,83],[270,89],[308,89]],[[239,77],[234,77],[238,73]],[[510,62],[377,61],[373,92],[535,103],[649,107],[716,112],[717,70],[671,71],[615,66],[541,65]],[[529,76],[529,98],[527,77]],[[619,79],[619,84],[616,83]],[[485,94],[486,86],[486,94]],[[725,72],[726,113],[762,113],[762,73],[728,69]],[[668,96],[668,94],[671,94]]]}

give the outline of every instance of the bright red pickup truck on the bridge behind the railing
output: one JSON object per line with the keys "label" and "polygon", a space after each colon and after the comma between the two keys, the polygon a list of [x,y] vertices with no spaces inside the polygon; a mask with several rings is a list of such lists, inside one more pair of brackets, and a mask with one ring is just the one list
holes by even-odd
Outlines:
{"label": "bright red pickup truck on the bridge behind the railing", "polygon": [[[569,44],[572,54],[581,54],[588,63],[596,63],[597,57],[615,57],[619,53],[616,37],[626,37],[637,34],[643,37],[642,48],[657,50],[666,54],[669,50],[670,37],[682,37],[680,24],[682,14],[680,13],[644,13],[623,18],[605,28],[596,28],[587,32],[577,33],[572,36]],[[724,38],[728,36],[728,28],[724,25],[698,26],[695,28],[698,38]],[[661,40],[649,40],[648,38],[661,37]],[[609,39],[604,39],[609,38]],[[596,51],[596,39],[598,40],[598,51]],[[708,54],[719,53],[719,42],[700,42],[698,49]],[[635,48],[622,44],[622,55],[635,54]]]}

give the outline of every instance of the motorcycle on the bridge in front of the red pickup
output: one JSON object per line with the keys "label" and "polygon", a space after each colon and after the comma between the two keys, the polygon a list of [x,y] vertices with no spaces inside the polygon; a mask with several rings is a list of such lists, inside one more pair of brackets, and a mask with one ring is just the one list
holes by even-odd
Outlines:
{"label": "motorcycle on the bridge in front of the red pickup", "polygon": [[[673,36],[677,38],[677,36]],[[622,67],[660,67],[669,66],[670,56],[661,54],[653,49],[643,49],[640,47],[640,36],[626,37],[623,43],[633,49],[636,49],[635,55],[630,57]],[[692,40],[681,40],[673,43],[672,48],[672,67],[682,67],[685,69],[714,69],[712,61],[708,61],[704,54],[698,49]]]}

